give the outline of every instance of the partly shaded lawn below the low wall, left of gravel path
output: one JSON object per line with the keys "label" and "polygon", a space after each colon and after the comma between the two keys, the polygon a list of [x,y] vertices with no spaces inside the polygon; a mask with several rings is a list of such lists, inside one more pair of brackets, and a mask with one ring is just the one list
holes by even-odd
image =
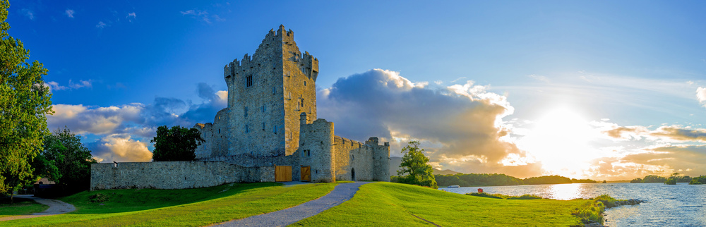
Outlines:
{"label": "partly shaded lawn below the low wall, left of gravel path", "polygon": [[251,183],[80,192],[59,199],[76,207],[69,214],[3,221],[0,226],[205,226],[294,207],[328,194],[335,185]]}

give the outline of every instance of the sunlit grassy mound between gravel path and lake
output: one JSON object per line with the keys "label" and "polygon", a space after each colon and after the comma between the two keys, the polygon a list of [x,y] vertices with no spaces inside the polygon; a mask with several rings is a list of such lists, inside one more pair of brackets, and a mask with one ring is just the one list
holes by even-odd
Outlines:
{"label": "sunlit grassy mound between gravel path and lake", "polygon": [[500,200],[381,182],[362,185],[351,200],[294,225],[429,225],[414,214],[440,226],[582,226],[571,212],[590,203],[590,200]]}

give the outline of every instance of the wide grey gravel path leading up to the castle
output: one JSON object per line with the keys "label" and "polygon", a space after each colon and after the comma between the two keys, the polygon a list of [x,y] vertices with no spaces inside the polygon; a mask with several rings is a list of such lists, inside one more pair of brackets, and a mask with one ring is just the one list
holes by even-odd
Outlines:
{"label": "wide grey gravel path leading up to the castle", "polygon": [[324,195],[316,200],[311,200],[296,207],[289,207],[280,211],[267,214],[250,216],[245,219],[238,219],[217,224],[218,226],[287,226],[301,219],[314,216],[321,211],[335,207],[342,202],[350,200],[360,185],[370,182],[342,183],[336,185],[328,195]]}

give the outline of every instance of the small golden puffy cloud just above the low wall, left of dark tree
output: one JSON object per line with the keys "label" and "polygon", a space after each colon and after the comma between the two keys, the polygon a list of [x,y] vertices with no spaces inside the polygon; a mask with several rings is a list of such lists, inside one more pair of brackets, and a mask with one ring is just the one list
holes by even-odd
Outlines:
{"label": "small golden puffy cloud just above the low wall, left of dark tree", "polygon": [[147,143],[132,140],[130,135],[109,135],[87,147],[99,162],[152,160],[152,152],[147,149]]}

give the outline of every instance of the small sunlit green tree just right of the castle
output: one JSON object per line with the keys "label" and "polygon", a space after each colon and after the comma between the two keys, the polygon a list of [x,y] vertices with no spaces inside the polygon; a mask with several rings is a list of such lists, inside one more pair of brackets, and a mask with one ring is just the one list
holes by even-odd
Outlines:
{"label": "small sunlit green tree just right of the castle", "polygon": [[[410,141],[407,147],[402,148],[402,163],[397,171],[400,183],[421,185],[431,188],[438,188],[434,170],[427,164],[429,158],[424,155],[424,149],[419,149],[419,141]],[[405,175],[407,173],[407,175]]]}

